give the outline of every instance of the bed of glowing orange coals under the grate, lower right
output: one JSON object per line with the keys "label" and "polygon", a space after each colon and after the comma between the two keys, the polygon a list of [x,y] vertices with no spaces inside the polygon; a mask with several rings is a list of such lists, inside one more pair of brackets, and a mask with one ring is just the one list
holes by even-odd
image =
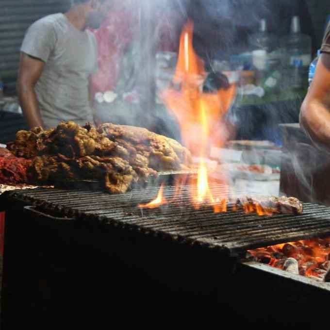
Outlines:
{"label": "bed of glowing orange coals under the grate, lower right", "polygon": [[285,270],[287,260],[297,261],[296,274],[323,280],[330,269],[330,237],[262,247],[248,251],[257,262]]}

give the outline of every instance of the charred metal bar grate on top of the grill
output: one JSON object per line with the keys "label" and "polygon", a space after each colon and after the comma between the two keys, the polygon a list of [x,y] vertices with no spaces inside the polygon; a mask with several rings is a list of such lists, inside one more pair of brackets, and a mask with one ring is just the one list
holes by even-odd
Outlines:
{"label": "charred metal bar grate on top of the grill", "polygon": [[[212,189],[223,191],[221,186],[213,186]],[[246,214],[243,210],[234,212],[235,204],[232,203],[227,213],[214,213],[211,207],[195,210],[186,187],[181,198],[174,203],[153,210],[137,207],[139,203],[155,198],[157,192],[157,188],[152,188],[109,196],[100,191],[36,189],[9,192],[2,198],[12,202],[23,201],[38,206],[45,213],[74,217],[77,221],[97,221],[187,244],[219,248],[233,254],[330,235],[330,209],[325,206],[303,203],[303,214],[258,216]],[[174,192],[174,187],[165,187],[165,198],[170,199]]]}

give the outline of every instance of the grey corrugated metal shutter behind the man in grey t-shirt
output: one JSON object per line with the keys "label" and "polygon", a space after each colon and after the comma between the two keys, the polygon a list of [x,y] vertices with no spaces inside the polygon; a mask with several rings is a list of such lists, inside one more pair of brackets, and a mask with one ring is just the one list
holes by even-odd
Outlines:
{"label": "grey corrugated metal shutter behind the man in grey t-shirt", "polygon": [[0,0],[0,74],[8,89],[15,88],[19,49],[27,28],[69,6],[70,0]]}

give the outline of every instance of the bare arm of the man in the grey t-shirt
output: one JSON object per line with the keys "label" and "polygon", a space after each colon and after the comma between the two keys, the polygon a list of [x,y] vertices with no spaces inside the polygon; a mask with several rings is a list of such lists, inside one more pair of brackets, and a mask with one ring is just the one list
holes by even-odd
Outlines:
{"label": "bare arm of the man in the grey t-shirt", "polygon": [[31,128],[44,127],[34,91],[34,86],[39,80],[44,66],[45,63],[43,61],[21,53],[17,93],[23,114]]}

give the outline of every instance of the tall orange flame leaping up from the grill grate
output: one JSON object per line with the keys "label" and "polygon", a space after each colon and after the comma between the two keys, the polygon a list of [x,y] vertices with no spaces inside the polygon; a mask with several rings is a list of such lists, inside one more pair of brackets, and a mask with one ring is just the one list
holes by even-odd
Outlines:
{"label": "tall orange flame leaping up from the grill grate", "polygon": [[[193,48],[194,24],[188,20],[180,38],[179,56],[173,78],[173,88],[163,92],[167,108],[177,117],[183,144],[200,159],[197,182],[192,184],[192,203],[195,208],[208,203],[214,212],[226,212],[225,196],[214,196],[209,184],[207,158],[210,148],[222,147],[226,141],[226,127],[222,116],[227,112],[236,93],[235,84],[214,93],[203,93],[202,84],[207,76],[204,63]],[[218,182],[219,183],[219,182]],[[225,178],[221,182],[226,184]],[[180,190],[178,190],[180,191]],[[161,188],[160,194],[163,193]],[[157,205],[161,200],[142,207]],[[141,207],[141,206],[140,206]]]}

